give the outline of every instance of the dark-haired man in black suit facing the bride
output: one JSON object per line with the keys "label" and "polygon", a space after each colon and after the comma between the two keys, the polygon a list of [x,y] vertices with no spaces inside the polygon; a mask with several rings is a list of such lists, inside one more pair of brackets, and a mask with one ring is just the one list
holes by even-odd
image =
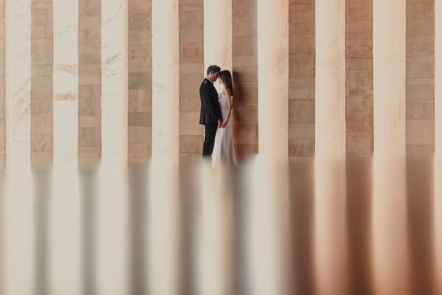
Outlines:
{"label": "dark-haired man in black suit facing the bride", "polygon": [[218,126],[222,123],[218,92],[213,86],[213,82],[217,81],[220,71],[221,68],[218,65],[209,66],[207,76],[199,87],[199,98],[201,99],[199,123],[204,124],[203,158],[212,158],[215,135]]}

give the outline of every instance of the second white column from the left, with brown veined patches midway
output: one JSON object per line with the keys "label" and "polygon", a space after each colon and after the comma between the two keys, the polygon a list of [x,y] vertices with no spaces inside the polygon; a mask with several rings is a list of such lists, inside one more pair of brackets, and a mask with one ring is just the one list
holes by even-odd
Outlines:
{"label": "second white column from the left, with brown veined patches midway", "polygon": [[54,161],[49,202],[52,294],[82,290],[78,182],[78,1],[54,1]]}

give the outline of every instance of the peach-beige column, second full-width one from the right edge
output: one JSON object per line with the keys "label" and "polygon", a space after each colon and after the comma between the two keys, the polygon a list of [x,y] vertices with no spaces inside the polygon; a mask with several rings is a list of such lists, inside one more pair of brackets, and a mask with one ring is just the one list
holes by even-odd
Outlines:
{"label": "peach-beige column, second full-width one from the right edge", "polygon": [[317,0],[315,272],[318,294],[347,292],[345,1]]}

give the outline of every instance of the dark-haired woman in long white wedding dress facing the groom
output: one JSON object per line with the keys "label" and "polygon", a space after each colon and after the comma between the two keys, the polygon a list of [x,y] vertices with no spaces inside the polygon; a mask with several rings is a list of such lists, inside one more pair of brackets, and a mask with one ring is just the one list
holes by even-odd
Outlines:
{"label": "dark-haired woman in long white wedding dress facing the groom", "polygon": [[223,89],[218,96],[218,103],[220,104],[222,122],[218,125],[217,130],[217,149],[214,157],[214,166],[234,165],[238,162],[235,155],[235,148],[233,147],[232,138],[232,98],[233,98],[233,84],[232,75],[228,70],[223,70],[218,76],[220,84]]}

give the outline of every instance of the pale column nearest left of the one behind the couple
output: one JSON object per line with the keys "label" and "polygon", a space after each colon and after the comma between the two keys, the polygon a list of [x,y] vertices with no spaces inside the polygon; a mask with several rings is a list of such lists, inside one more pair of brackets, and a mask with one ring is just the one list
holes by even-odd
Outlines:
{"label": "pale column nearest left of the one behind the couple", "polygon": [[176,295],[179,278],[178,0],[152,0],[152,166],[148,210],[149,293]]}

